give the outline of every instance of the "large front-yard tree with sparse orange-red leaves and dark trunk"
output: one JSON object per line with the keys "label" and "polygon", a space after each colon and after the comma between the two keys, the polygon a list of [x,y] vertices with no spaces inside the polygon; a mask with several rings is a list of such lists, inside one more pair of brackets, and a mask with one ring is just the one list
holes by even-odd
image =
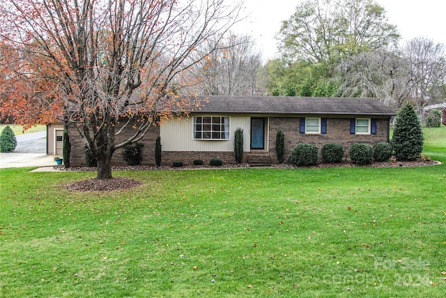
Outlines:
{"label": "large front-yard tree with sparse orange-red leaves and dark trunk", "polygon": [[[22,124],[63,114],[112,178],[114,151],[137,142],[179,100],[187,70],[219,46],[240,5],[224,0],[8,0],[0,4],[0,114]],[[240,4],[240,3],[239,3]],[[206,48],[206,52],[202,50]],[[133,135],[116,141],[123,128]],[[122,123],[121,123],[122,124]]]}

